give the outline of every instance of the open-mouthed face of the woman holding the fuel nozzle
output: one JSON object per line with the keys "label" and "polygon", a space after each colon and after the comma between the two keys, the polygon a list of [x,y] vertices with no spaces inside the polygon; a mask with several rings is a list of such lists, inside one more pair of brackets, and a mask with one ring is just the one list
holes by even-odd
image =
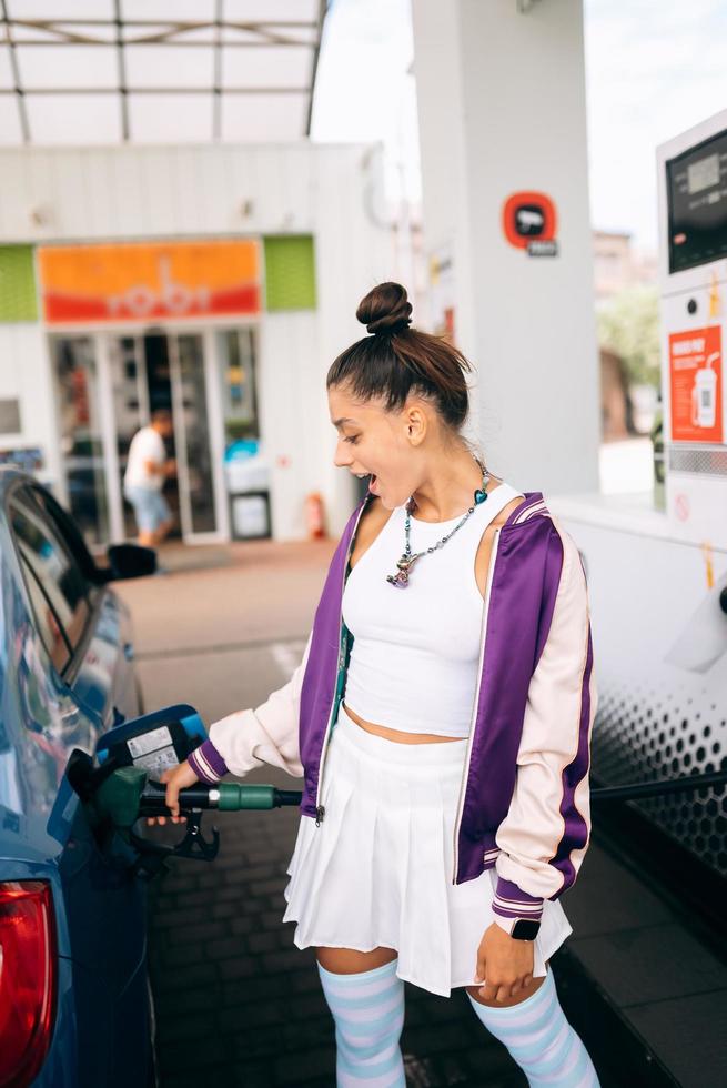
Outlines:
{"label": "open-mouthed face of the woman holding the fuel nozzle", "polygon": [[416,399],[401,412],[385,412],[381,401],[362,404],[331,386],[329,410],[339,434],[334,464],[356,475],[368,475],[368,490],[387,510],[403,506],[416,490],[423,467],[417,471],[416,447],[411,441],[426,429],[425,412]]}

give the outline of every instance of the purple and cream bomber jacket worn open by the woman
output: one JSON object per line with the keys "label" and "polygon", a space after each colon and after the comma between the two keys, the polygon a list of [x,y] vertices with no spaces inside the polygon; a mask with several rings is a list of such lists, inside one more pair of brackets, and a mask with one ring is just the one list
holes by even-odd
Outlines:
{"label": "purple and cream bomber jacket worn open by the woman", "polygon": [[[189,757],[202,782],[269,764],[303,777],[301,813],[320,822],[325,756],[353,635],[341,604],[359,503],[335,550],[303,659],[265,703],[212,723]],[[495,530],[453,884],[496,867],[492,909],[538,920],[575,882],[590,837],[588,770],[597,692],[580,553],[539,491]]]}

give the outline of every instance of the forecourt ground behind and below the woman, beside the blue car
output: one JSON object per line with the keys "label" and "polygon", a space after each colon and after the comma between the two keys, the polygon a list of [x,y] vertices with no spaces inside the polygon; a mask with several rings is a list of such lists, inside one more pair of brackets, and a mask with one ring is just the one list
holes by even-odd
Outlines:
{"label": "forecourt ground behind and below the woman, beside the blue car", "polygon": [[[201,555],[198,570],[121,586],[134,615],[147,708],[190,702],[209,723],[284,684],[303,652],[333,546],[250,542],[234,545],[219,568],[205,568]],[[267,768],[246,780],[299,786]],[[296,808],[205,816],[208,837],[213,823],[221,830],[216,860],[176,860],[153,883],[162,1088],[199,1088],[212,1077],[240,1088],[335,1085],[333,1021],[313,950],[299,950],[294,925],[281,923],[297,819]],[[183,832],[168,825],[153,834],[172,842]],[[567,1011],[562,955],[552,964]],[[446,999],[406,984],[402,1049],[410,1086],[527,1084],[464,990]]]}

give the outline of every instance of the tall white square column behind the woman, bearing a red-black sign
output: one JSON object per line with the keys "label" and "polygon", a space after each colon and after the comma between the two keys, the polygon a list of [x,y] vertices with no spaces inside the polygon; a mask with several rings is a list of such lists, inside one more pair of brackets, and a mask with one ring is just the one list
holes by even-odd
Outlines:
{"label": "tall white square column behind the woman, bearing a red-black sign", "polygon": [[[580,0],[413,0],[412,13],[426,248],[452,254],[488,466],[521,490],[597,491]],[[505,238],[503,205],[526,191],[555,203],[556,256]]]}

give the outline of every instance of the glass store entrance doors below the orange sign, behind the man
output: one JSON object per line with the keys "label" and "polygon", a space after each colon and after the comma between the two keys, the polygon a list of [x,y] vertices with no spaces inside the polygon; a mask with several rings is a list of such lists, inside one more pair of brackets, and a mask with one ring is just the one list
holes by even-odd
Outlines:
{"label": "glass store entrance doors below the orange sign, behind the man", "polygon": [[178,471],[163,488],[174,518],[170,536],[190,543],[219,538],[203,334],[153,329],[51,335],[49,343],[60,497],[89,545],[137,536],[123,476],[131,440],[160,407],[174,421],[166,454]]}

